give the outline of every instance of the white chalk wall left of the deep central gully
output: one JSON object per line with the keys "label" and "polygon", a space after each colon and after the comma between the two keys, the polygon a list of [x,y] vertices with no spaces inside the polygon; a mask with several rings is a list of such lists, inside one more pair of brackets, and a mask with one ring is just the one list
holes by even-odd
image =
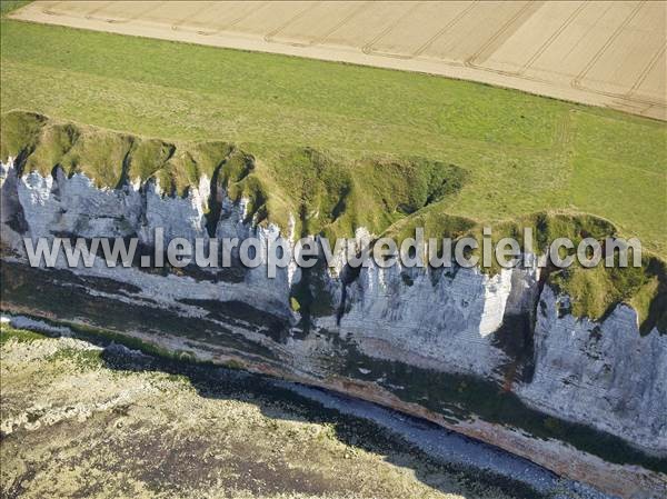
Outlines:
{"label": "white chalk wall left of the deep central gully", "polygon": [[[185,198],[163,196],[153,182],[127,184],[122,189],[98,189],[84,174],[67,178],[58,171],[56,178],[42,177],[36,171],[17,178],[12,163],[2,164],[3,244],[18,255],[26,256],[22,238],[37,242],[39,238],[56,236],[73,238],[137,237],[141,244],[153,247],[156,233],[162,231],[163,248],[169,240],[185,238],[195,243],[197,238],[208,241],[206,202],[210,182],[202,178],[199,188],[190,189]],[[220,238],[257,238],[266,248],[280,230],[270,224],[258,227],[243,223],[246,203],[223,199],[223,208],[216,228]],[[7,209],[4,209],[7,208]],[[20,220],[20,223],[11,221]],[[12,228],[13,227],[13,228]],[[16,230],[22,229],[22,230]],[[260,256],[266,251],[259,251]],[[92,268],[80,261],[76,272],[131,283],[141,290],[145,299],[163,307],[181,308],[193,313],[192,307],[180,300],[240,301],[253,307],[263,306],[270,313],[291,319],[289,311],[289,272],[277,269],[275,279],[268,279],[262,258],[259,266],[242,269],[240,279],[232,281],[218,276],[216,270],[202,269],[205,279],[177,275],[162,276],[141,271],[120,263],[109,268],[103,259],[96,258]],[[57,267],[67,268],[63,252]]]}

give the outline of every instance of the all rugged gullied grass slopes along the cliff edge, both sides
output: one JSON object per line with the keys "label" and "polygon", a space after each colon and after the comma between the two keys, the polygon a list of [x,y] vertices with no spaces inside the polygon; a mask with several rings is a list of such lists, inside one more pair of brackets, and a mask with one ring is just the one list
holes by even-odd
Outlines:
{"label": "all rugged gullied grass slopes along the cliff edge, both sides", "polygon": [[[422,227],[427,237],[472,236],[481,241],[484,226],[494,240],[532,227],[535,246],[546,251],[556,238],[577,244],[586,237],[604,240],[619,234],[609,221],[583,213],[542,211],[509,220],[476,220],[449,212],[452,198],[470,182],[470,171],[454,163],[389,154],[345,154],[311,148],[228,142],[168,142],[13,111],[2,114],[0,158],[16,159],[23,172],[83,172],[99,187],[155,179],[166,193],[183,196],[201,176],[215,192],[250,201],[249,220],[273,222],[287,230],[295,217],[296,234],[350,237],[364,227],[397,239]],[[217,219],[217,199],[208,209]],[[497,268],[495,270],[498,270]],[[494,269],[491,269],[494,271]],[[667,331],[667,270],[658,257],[645,253],[640,269],[598,267],[551,272],[549,282],[573,298],[573,313],[600,319],[618,302],[639,312],[641,330]]]}

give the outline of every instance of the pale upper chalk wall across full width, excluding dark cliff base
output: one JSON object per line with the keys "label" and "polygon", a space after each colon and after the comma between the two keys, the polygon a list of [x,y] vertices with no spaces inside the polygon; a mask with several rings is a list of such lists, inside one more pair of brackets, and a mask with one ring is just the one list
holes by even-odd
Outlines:
{"label": "pale upper chalk wall across full width, excluding dark cliff base", "polygon": [[[218,219],[207,220],[211,193],[207,178],[180,198],[165,196],[153,182],[98,189],[83,174],[19,177],[12,163],[1,166],[0,177],[2,253],[12,265],[27,263],[24,237],[135,236],[153,247],[155,230],[162,228],[166,240],[209,240],[215,231],[217,238],[240,241],[255,237],[266,248],[271,241],[293,239],[293,224],[290,233],[255,224],[248,221],[246,201],[225,194],[218,200]],[[275,279],[267,277],[263,265],[237,267],[233,275],[222,269],[152,272],[137,265],[109,268],[97,258],[90,268],[81,263],[69,270],[131,286],[122,291],[98,289],[99,281],[89,279],[84,286],[90,296],[206,320],[202,328],[209,339],[227,335],[261,345],[265,358],[271,357],[271,362],[280,363],[280,372],[296,379],[326,385],[332,376],[355,378],[349,370],[334,368],[345,361],[337,357],[354,347],[367,358],[419,368],[422,373],[477,377],[512,390],[545,415],[667,455],[667,336],[657,330],[640,336],[631,308],[620,305],[600,322],[563,313],[567,297],[540,283],[535,261],[495,276],[478,269],[371,265],[349,278],[341,256],[335,257],[337,268],[319,271],[321,286],[311,289],[316,300],[331,303],[331,310],[310,318],[290,307],[303,275],[293,266],[277,269]],[[58,267],[66,268],[62,256]],[[11,301],[11,295],[8,298]],[[530,325],[522,357],[504,346],[504,328],[516,318]],[[512,363],[530,365],[530,376],[520,381],[508,377],[506,367]],[[366,372],[359,369],[357,376]]]}

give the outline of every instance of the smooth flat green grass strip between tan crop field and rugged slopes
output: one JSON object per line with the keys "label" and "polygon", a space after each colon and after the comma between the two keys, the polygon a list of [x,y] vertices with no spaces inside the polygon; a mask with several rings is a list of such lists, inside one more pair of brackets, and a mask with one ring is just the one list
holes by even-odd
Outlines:
{"label": "smooth flat green grass strip between tan crop field and rugged slopes", "polygon": [[[449,214],[588,212],[667,256],[664,122],[425,74],[1,23],[2,112],[30,109],[171,143],[222,138],[252,144],[258,158],[310,147],[346,161],[452,163],[468,173],[442,201]],[[282,158],[311,167],[296,156]]]}

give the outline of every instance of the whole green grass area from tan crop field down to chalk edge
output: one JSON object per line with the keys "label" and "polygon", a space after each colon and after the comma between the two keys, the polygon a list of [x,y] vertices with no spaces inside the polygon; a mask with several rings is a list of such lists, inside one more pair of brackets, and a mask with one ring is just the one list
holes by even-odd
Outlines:
{"label": "whole green grass area from tan crop field down to chalk edge", "polygon": [[[1,37],[2,154],[34,133],[33,168],[60,163],[108,186],[156,176],[182,192],[226,159],[223,187],[283,227],[301,216],[302,232],[589,213],[667,256],[664,122],[440,77],[7,19]],[[31,129],[7,114],[16,109],[52,120]],[[69,121],[81,123],[73,134]],[[581,281],[593,316],[628,299],[609,292],[625,279],[586,276],[568,282]]]}

